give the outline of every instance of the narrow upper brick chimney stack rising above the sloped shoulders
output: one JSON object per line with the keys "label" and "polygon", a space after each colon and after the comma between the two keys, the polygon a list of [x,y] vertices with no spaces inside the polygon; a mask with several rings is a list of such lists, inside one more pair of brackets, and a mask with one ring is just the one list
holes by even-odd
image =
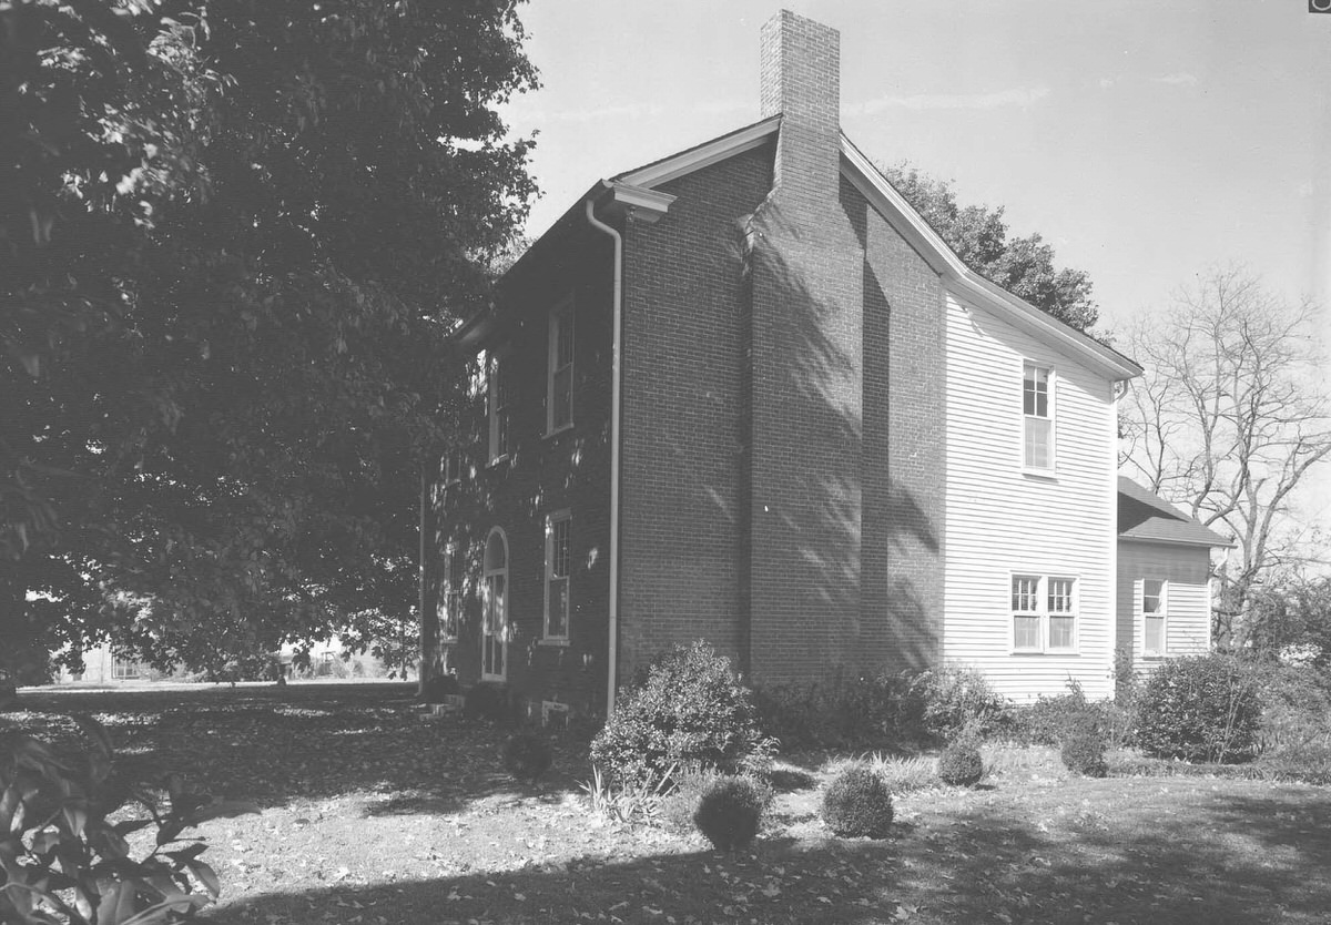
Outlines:
{"label": "narrow upper brick chimney stack rising above the sloped shoulders", "polygon": [[781,116],[773,186],[796,212],[837,201],[841,35],[783,9],[763,25],[763,118]]}

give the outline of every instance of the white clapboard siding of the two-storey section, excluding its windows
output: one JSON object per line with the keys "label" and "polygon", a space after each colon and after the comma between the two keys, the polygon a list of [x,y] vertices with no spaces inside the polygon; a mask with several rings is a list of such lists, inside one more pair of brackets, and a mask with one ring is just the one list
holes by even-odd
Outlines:
{"label": "white clapboard siding of the two-storey section, excluding its windows", "polygon": [[[944,659],[1005,696],[1074,679],[1113,693],[1115,405],[1113,383],[948,293]],[[1053,478],[1022,471],[1022,365],[1054,370]],[[1075,653],[1013,653],[1013,574],[1074,576]]]}

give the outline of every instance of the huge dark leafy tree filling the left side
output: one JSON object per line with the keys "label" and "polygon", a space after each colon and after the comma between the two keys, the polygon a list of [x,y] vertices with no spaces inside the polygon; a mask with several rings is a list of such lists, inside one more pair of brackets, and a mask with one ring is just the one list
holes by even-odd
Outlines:
{"label": "huge dark leafy tree filling the left side", "polygon": [[7,178],[40,208],[4,200],[0,632],[217,667],[395,624],[446,335],[534,192],[494,110],[535,84],[516,0],[0,13],[3,109],[63,98],[69,138]]}

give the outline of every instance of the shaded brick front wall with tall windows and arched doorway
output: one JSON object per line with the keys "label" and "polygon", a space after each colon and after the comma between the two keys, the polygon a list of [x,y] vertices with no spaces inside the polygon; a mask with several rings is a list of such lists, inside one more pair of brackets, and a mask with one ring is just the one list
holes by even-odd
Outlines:
{"label": "shaded brick front wall with tall windows and arched doorway", "polygon": [[[506,281],[506,322],[484,345],[507,347],[512,417],[507,462],[488,466],[484,401],[467,422],[471,450],[461,484],[437,491],[434,554],[427,563],[437,592],[447,543],[466,551],[465,620],[441,660],[459,680],[480,677],[482,555],[492,527],[508,540],[507,683],[519,699],[559,700],[583,713],[604,711],[610,607],[610,240],[586,222],[556,232],[535,260]],[[546,437],[548,313],[574,294],[574,426]],[[544,630],[544,520],[570,510],[570,643],[542,643]],[[431,595],[433,596],[433,595]]]}

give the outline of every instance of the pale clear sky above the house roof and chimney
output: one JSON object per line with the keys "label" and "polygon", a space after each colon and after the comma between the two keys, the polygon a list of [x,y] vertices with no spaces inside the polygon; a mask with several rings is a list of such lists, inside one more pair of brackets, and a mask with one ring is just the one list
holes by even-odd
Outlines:
{"label": "pale clear sky above the house roof and chimney", "polygon": [[1044,236],[1090,274],[1101,329],[1242,262],[1316,299],[1331,342],[1331,13],[1310,0],[530,0],[542,88],[503,109],[536,133],[528,234],[756,121],[783,5],[840,31],[851,140]]}

